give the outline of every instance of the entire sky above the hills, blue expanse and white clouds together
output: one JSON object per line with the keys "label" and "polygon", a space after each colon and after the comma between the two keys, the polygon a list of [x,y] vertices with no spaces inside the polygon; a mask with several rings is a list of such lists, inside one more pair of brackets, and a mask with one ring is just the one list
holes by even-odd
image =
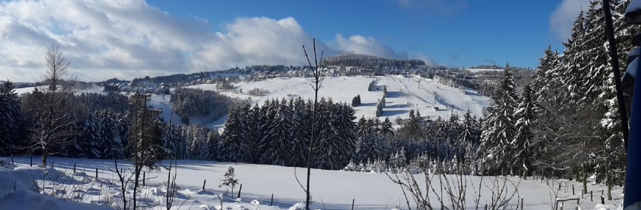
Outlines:
{"label": "entire sky above the hills, blue expanse and white clouds together", "polygon": [[588,0],[0,0],[0,79],[35,81],[59,45],[85,81],[246,65],[304,65],[326,54],[419,58],[450,67],[536,67],[562,50]]}

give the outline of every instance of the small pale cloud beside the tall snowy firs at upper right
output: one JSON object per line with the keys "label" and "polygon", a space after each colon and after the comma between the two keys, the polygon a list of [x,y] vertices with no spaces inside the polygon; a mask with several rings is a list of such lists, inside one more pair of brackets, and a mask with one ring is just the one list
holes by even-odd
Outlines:
{"label": "small pale cloud beside the tall snowy firs at upper right", "polygon": [[562,41],[570,37],[572,25],[579,11],[587,10],[590,0],[563,0],[550,16],[550,29]]}

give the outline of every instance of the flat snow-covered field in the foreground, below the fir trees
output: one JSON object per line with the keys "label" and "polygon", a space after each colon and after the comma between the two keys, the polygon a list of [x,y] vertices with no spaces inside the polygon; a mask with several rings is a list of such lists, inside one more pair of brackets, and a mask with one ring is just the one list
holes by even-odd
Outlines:
{"label": "flat snow-covered field in the foreground, below the fir trees", "polygon": [[[34,157],[36,162],[38,157]],[[29,167],[29,157],[15,157],[18,168],[26,174],[32,174],[33,179],[39,186],[44,186],[45,190],[55,190],[60,192],[60,196],[65,193],[77,193],[84,195],[83,202],[101,203],[106,200],[114,202],[119,200],[119,182],[117,175],[110,172],[113,170],[113,160],[98,159],[70,159],[61,157],[50,157],[54,161],[54,167],[58,172],[48,169],[47,175],[44,175],[42,169]],[[75,175],[71,175],[73,164],[76,163],[77,170]],[[167,162],[163,162],[167,165]],[[131,168],[127,161],[119,161],[119,166]],[[242,183],[242,193],[240,199],[236,199],[238,188],[235,189],[234,195],[223,196],[223,206],[231,209],[290,209],[304,200],[304,193],[296,182],[294,177],[294,168],[271,165],[250,165],[242,163],[219,163],[215,161],[178,161],[177,184],[181,187],[177,195],[178,201],[175,203],[183,204],[180,209],[220,209],[220,194],[226,191],[226,188],[220,187],[221,179],[228,167],[234,167],[236,178]],[[95,179],[95,170],[98,168],[98,179]],[[0,168],[0,187],[6,192],[11,188],[10,179],[20,179],[19,189],[25,191],[29,186],[22,186],[29,183],[21,173],[15,170],[4,170]],[[304,169],[298,168],[297,174],[299,179],[305,179]],[[70,177],[63,177],[62,173],[67,173]],[[16,177],[18,176],[18,177]],[[142,190],[142,204],[149,205],[151,209],[163,209],[164,204],[164,186],[163,182],[167,180],[167,171],[147,172],[147,177],[151,177],[146,182],[146,187]],[[43,180],[44,177],[44,180]],[[57,177],[57,178],[56,178]],[[72,178],[72,179],[71,179]],[[470,182],[477,184],[481,177],[467,176]],[[206,181],[205,190],[201,191],[203,181]],[[422,175],[416,175],[419,183],[422,183]],[[492,178],[484,177],[483,181],[487,182]],[[549,204],[553,200],[553,190],[545,184],[546,181],[540,180],[520,180],[517,177],[508,177],[515,184],[518,184],[519,196],[524,198],[524,209],[551,209]],[[562,190],[558,191],[560,198],[579,197],[581,184],[573,181],[549,180],[556,183],[562,182]],[[31,182],[33,183],[33,182]],[[166,182],[165,182],[166,183]],[[438,184],[436,182],[435,184]],[[572,195],[572,184],[576,188],[577,195]],[[33,186],[33,184],[31,184]],[[466,203],[469,208],[473,208],[472,184],[467,188]],[[565,188],[567,186],[567,188]],[[590,201],[589,194],[583,196],[580,200],[582,209],[594,209],[599,202],[599,195],[603,185],[588,184],[588,189],[594,191],[594,201]],[[567,190],[566,190],[567,189]],[[394,184],[385,174],[372,174],[366,172],[345,172],[332,170],[312,170],[312,185],[314,209],[350,209],[354,199],[354,209],[394,209],[399,206],[406,209],[403,192],[401,188]],[[11,190],[9,190],[11,191]],[[62,193],[62,192],[65,193]],[[129,190],[131,191],[131,190]],[[513,191],[513,188],[510,188]],[[269,206],[271,195],[274,195],[274,206]],[[29,209],[29,207],[42,206],[47,202],[58,205],[59,200],[44,199],[42,195],[27,193],[28,197],[19,197],[25,195],[24,192],[18,194],[8,193],[8,197],[0,197],[0,209]],[[482,190],[481,204],[485,204],[491,193]],[[615,188],[613,191],[614,200],[606,200],[606,204],[620,204],[621,190]],[[69,195],[69,194],[67,194]],[[430,192],[431,200],[436,200],[435,193]],[[6,198],[5,198],[6,197]],[[42,202],[39,202],[42,200]],[[53,200],[53,201],[52,201]],[[21,202],[26,207],[22,208]],[[71,204],[69,204],[71,205]],[[67,205],[67,206],[69,206]],[[60,205],[58,205],[60,206]],[[69,207],[59,207],[58,209],[71,210]],[[565,204],[566,209],[572,206],[571,202]],[[53,208],[53,207],[52,207]],[[51,209],[51,208],[50,208]],[[78,209],[86,209],[78,207]]]}

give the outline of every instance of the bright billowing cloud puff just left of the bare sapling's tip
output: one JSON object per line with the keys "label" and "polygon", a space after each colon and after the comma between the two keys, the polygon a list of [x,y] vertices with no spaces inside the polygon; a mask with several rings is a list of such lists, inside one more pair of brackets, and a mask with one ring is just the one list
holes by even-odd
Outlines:
{"label": "bright billowing cloud puff just left of the bare sapling's tip", "polygon": [[[292,17],[281,20],[266,17],[242,18],[225,26],[227,33],[216,33],[194,53],[197,69],[228,68],[253,64],[303,64],[303,44],[312,52],[312,36]],[[336,54],[322,42],[317,51]],[[319,54],[320,56],[320,54]]]}

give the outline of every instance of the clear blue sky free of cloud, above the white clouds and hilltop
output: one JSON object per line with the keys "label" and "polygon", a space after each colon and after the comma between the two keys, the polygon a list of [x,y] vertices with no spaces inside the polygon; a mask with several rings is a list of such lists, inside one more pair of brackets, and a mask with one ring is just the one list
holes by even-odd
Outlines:
{"label": "clear blue sky free of cloud, above the white clouds and hilltop", "polygon": [[561,1],[149,1],[158,8],[206,19],[212,30],[238,17],[293,17],[331,45],[337,34],[372,36],[396,51],[424,54],[438,64],[536,67],[562,38],[550,27]]}

